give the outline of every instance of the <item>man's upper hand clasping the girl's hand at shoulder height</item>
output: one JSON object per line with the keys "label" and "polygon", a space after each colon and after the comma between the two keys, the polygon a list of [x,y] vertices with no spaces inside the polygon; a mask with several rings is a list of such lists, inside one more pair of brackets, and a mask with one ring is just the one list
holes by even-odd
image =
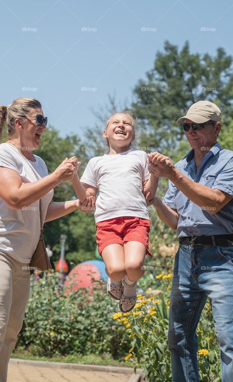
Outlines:
{"label": "man's upper hand clasping the girl's hand at shoulder height", "polygon": [[169,157],[159,152],[151,152],[148,155],[149,172],[158,178],[172,178],[175,175],[176,168]]}

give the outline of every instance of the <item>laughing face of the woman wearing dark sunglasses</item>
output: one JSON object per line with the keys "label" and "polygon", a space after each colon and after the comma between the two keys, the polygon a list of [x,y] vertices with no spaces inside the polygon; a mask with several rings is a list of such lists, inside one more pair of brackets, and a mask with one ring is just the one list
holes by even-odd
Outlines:
{"label": "laughing face of the woman wearing dark sunglasses", "polygon": [[[28,115],[41,114],[44,117],[42,109],[32,109]],[[41,126],[36,125],[35,117],[26,117],[21,122],[22,128],[20,129],[20,135],[22,143],[25,145],[24,150],[30,150],[40,146],[41,134],[46,129],[45,124]]]}

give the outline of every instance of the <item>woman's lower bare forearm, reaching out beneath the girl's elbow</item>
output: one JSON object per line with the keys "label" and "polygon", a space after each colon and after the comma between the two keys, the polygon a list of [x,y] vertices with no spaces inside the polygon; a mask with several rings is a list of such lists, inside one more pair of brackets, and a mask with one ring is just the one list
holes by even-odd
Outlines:
{"label": "woman's lower bare forearm, reaching out beneath the girl's elbow", "polygon": [[59,217],[70,214],[75,211],[77,200],[68,200],[66,202],[51,202],[48,205],[45,222],[58,219]]}

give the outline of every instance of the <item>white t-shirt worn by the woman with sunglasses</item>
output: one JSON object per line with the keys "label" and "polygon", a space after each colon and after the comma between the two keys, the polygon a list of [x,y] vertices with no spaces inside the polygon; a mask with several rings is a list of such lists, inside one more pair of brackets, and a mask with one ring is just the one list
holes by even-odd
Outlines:
{"label": "white t-shirt worn by the woman with sunglasses", "polygon": [[[0,144],[0,166],[18,172],[22,183],[35,182],[48,175],[48,169],[43,159],[37,155],[34,156],[36,161],[32,162],[22,157],[11,144]],[[41,199],[43,222],[52,198],[53,190]],[[14,210],[6,206],[0,198],[0,252],[20,262],[29,263],[37,247],[39,237],[39,200],[28,207]]]}

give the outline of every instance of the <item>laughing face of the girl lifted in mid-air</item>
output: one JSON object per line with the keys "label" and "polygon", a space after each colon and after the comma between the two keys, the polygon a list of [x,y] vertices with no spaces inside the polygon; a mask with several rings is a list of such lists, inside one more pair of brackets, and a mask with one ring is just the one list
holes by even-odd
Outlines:
{"label": "laughing face of the girl lifted in mid-air", "polygon": [[103,137],[108,139],[110,147],[129,147],[130,143],[135,139],[129,115],[124,113],[113,115],[108,128],[104,130]]}

